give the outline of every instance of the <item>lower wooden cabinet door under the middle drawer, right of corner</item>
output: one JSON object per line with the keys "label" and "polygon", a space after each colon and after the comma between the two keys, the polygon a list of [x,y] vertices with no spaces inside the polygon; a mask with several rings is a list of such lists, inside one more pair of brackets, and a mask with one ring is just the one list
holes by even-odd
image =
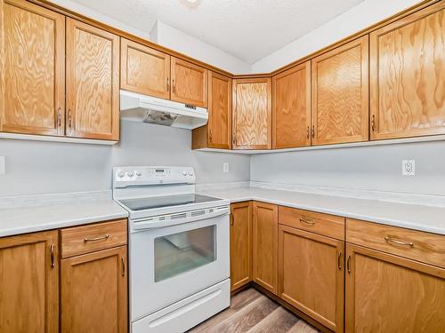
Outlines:
{"label": "lower wooden cabinet door under the middle drawer, right of corner", "polygon": [[280,225],[279,297],[343,332],[344,242]]}

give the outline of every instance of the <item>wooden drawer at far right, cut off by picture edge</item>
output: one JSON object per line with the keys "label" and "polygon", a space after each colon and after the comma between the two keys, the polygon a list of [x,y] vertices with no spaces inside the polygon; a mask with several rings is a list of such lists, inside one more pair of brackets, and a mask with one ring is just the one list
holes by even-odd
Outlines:
{"label": "wooden drawer at far right, cut off by picture edge", "polygon": [[445,236],[348,218],[346,241],[445,267]]}

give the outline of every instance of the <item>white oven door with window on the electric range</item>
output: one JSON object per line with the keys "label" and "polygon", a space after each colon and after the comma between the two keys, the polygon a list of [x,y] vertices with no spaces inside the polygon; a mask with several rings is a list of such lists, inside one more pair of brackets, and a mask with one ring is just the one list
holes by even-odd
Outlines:
{"label": "white oven door with window on the electric range", "polygon": [[130,234],[132,321],[229,278],[229,208],[219,213]]}

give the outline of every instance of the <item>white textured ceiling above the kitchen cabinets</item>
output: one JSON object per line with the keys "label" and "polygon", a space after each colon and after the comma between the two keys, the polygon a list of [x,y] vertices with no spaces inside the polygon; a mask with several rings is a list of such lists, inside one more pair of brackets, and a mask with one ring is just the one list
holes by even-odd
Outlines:
{"label": "white textured ceiling above the kitchen cabinets", "polygon": [[249,64],[363,0],[74,0],[150,33],[157,20]]}

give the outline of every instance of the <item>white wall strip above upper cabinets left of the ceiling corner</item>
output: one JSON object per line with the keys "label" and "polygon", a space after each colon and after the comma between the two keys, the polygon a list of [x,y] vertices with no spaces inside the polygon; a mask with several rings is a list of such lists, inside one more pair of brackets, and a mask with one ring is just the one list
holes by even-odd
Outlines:
{"label": "white wall strip above upper cabinets left of the ceiling corner", "polygon": [[234,57],[211,44],[206,44],[198,38],[184,34],[182,31],[160,20],[152,28],[150,39],[157,44],[204,61],[215,67],[220,67],[233,74],[248,74],[252,70],[251,65],[246,61]]}

